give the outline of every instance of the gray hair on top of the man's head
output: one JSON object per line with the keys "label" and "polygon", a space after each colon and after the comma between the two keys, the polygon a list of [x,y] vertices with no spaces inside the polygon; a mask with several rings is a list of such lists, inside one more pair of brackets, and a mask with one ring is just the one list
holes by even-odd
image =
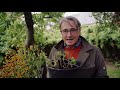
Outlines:
{"label": "gray hair on top of the man's head", "polygon": [[81,23],[78,21],[77,18],[75,18],[75,17],[73,17],[73,16],[64,17],[64,18],[60,21],[60,24],[59,24],[59,25],[60,25],[60,28],[61,28],[61,24],[62,24],[64,21],[68,22],[68,20],[73,21],[73,22],[76,24],[76,27],[80,29]]}

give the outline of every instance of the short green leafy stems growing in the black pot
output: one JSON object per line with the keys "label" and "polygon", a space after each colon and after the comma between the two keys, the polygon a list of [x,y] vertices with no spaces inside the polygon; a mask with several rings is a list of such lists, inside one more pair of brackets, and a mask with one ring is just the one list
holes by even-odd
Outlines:
{"label": "short green leafy stems growing in the black pot", "polygon": [[47,59],[47,66],[55,69],[70,69],[77,66],[76,60],[72,57],[69,59],[65,58],[65,53],[58,51],[55,55],[54,60]]}

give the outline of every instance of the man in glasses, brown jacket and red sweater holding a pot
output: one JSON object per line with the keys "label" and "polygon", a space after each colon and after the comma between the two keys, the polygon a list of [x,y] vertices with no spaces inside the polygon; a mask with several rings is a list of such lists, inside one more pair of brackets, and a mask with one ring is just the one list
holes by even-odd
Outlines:
{"label": "man in glasses, brown jacket and red sweater holding a pot", "polygon": [[80,36],[80,31],[81,24],[75,17],[63,18],[60,22],[62,40],[51,49],[49,59],[54,59],[57,51],[68,52],[70,58],[74,57],[80,63],[80,78],[108,77],[100,49]]}

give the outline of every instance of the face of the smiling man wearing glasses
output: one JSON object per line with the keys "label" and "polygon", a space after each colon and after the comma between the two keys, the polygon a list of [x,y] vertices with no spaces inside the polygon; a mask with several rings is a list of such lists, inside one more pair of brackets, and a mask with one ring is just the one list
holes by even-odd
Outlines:
{"label": "face of the smiling man wearing glasses", "polygon": [[72,20],[63,21],[61,24],[61,34],[63,41],[69,46],[73,47],[79,38],[80,29]]}

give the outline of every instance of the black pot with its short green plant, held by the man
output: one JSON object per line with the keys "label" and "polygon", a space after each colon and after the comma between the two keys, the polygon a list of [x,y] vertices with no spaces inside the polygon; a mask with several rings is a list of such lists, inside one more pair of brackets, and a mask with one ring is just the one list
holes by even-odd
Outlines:
{"label": "black pot with its short green plant, held by the man", "polygon": [[80,64],[74,58],[65,58],[65,53],[56,53],[54,60],[47,60],[47,70],[50,78],[76,78]]}

